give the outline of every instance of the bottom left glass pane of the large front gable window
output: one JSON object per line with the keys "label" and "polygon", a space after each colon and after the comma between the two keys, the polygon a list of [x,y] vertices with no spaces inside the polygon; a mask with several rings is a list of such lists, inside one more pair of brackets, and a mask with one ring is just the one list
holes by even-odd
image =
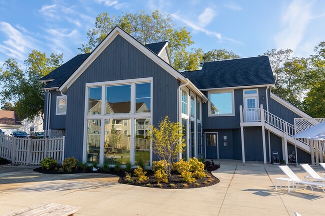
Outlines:
{"label": "bottom left glass pane of the large front gable window", "polygon": [[100,119],[87,121],[87,163],[99,163]]}

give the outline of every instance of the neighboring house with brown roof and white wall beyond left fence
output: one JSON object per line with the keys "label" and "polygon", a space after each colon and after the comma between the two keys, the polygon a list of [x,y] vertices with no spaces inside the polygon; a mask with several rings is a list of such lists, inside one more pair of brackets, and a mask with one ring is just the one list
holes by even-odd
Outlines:
{"label": "neighboring house with brown roof and white wall beyond left fence", "polygon": [[19,120],[14,111],[0,110],[0,129],[5,134],[12,134],[14,131],[25,131],[27,134],[43,131],[43,120],[36,116],[33,122]]}

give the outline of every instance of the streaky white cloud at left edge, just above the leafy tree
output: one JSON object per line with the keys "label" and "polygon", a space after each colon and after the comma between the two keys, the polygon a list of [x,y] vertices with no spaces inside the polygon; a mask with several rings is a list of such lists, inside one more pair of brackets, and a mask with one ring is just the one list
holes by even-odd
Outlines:
{"label": "streaky white cloud at left edge, just above the leafy tree", "polygon": [[9,57],[24,60],[26,54],[36,46],[36,40],[33,37],[22,34],[7,22],[0,22],[0,31],[7,38],[0,44],[0,52]]}

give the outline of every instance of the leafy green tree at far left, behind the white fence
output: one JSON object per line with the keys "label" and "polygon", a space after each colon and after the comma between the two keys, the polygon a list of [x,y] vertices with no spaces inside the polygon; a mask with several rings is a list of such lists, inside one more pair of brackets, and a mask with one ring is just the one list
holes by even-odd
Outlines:
{"label": "leafy green tree at far left, behind the white fence", "polygon": [[62,54],[50,54],[32,50],[24,61],[24,69],[13,58],[0,68],[1,103],[14,101],[14,110],[19,118],[33,121],[35,116],[43,117],[44,91],[39,79],[63,63]]}

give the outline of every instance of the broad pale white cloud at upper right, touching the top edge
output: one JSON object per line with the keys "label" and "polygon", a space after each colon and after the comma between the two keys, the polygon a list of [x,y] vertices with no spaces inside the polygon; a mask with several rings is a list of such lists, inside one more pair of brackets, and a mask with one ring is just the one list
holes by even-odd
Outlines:
{"label": "broad pale white cloud at upper right, touching the top edge", "polygon": [[280,18],[281,30],[274,37],[277,49],[290,48],[296,51],[312,18],[311,5],[309,1],[291,1]]}

